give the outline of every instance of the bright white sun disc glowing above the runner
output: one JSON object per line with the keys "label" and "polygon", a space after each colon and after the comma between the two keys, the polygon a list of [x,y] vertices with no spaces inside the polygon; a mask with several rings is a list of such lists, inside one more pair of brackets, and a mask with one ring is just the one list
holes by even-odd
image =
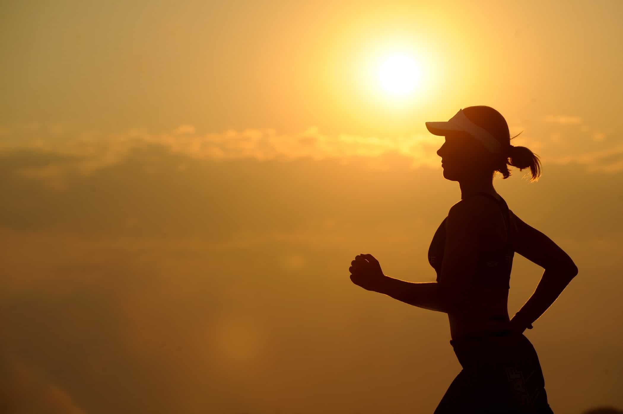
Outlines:
{"label": "bright white sun disc glowing above the runner", "polygon": [[420,86],[421,70],[415,59],[406,54],[385,57],[378,71],[381,88],[392,96],[406,96]]}

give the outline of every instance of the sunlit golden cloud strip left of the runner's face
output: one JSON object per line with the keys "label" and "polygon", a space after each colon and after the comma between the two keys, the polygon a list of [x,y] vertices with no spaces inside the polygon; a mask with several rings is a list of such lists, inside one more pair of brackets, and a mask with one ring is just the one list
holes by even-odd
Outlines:
{"label": "sunlit golden cloud strip left of the runner's face", "polygon": [[[125,159],[131,151],[155,145],[173,154],[193,159],[257,159],[281,161],[310,158],[321,159],[353,157],[368,158],[369,166],[386,168],[379,160],[385,154],[399,154],[410,159],[412,167],[439,166],[435,153],[442,141],[430,134],[412,134],[399,138],[358,136],[354,134],[328,135],[312,126],[297,134],[278,134],[275,129],[228,129],[222,133],[196,134],[192,125],[181,125],[171,133],[151,134],[144,129],[130,129],[125,133],[80,133],[65,136],[57,131],[45,135],[42,130],[34,136],[12,141],[5,140],[0,154],[11,151],[37,151],[57,154],[61,162],[50,159],[45,164],[24,165],[15,171],[24,177],[41,179],[57,191],[64,187],[63,177],[71,174],[86,176],[113,166]],[[146,166],[146,169],[149,167]]]}

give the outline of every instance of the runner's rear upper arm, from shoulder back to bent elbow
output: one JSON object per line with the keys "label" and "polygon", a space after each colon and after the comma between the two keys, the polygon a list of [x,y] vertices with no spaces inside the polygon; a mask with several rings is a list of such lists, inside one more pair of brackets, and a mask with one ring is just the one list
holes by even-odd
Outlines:
{"label": "runner's rear upper arm, from shoulder back to bent elbow", "polygon": [[577,273],[573,260],[563,249],[536,228],[511,213],[516,223],[515,252],[544,269],[568,268]]}

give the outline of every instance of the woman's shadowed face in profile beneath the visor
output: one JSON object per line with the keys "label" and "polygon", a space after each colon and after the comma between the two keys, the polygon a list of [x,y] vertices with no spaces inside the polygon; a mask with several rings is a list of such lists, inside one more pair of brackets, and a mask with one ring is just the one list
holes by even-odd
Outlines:
{"label": "woman's shadowed face in profile beneath the visor", "polygon": [[441,157],[444,178],[450,181],[461,181],[487,170],[484,162],[488,159],[486,149],[465,133],[447,132],[437,155]]}

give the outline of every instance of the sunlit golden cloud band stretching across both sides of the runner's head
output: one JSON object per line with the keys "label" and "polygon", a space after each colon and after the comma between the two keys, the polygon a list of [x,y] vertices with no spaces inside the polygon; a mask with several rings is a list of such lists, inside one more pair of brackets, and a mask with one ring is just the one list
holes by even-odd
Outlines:
{"label": "sunlit golden cloud band stretching across both sides of the runner's head", "polygon": [[[578,123],[581,118],[549,115],[546,120],[569,124]],[[296,159],[338,159],[343,164],[363,162],[370,169],[387,171],[396,157],[409,164],[411,169],[421,166],[439,168],[436,151],[443,141],[439,136],[418,133],[393,137],[325,134],[317,126],[310,126],[293,134],[280,134],[272,128],[227,129],[221,133],[199,134],[192,125],[180,125],[169,133],[158,134],[141,128],[121,133],[83,132],[65,134],[62,137],[56,131],[50,133],[49,128],[40,128],[37,131],[19,136],[19,139],[0,141],[0,157],[15,151],[22,151],[22,154],[25,154],[24,151],[31,151],[30,156],[35,153],[48,154],[49,159],[46,162],[28,163],[26,161],[29,158],[24,159],[26,163],[13,169],[11,174],[44,182],[57,192],[67,189],[68,177],[88,176],[110,168],[124,162],[130,154],[145,148],[158,148],[158,151],[165,153],[204,161],[254,159],[286,162]],[[605,137],[605,133],[595,131],[591,143],[605,142]],[[617,153],[617,148],[572,154],[573,146],[569,146],[568,139],[563,139],[558,131],[549,133],[546,141],[521,134],[513,139],[513,144],[527,146],[539,154],[544,162],[578,162],[590,172],[621,171],[618,162],[606,162],[601,157],[604,151]],[[586,146],[586,143],[581,145]],[[151,174],[156,173],[155,168],[153,160],[146,160],[141,167],[142,171]],[[177,168],[178,171],[186,171],[188,165],[181,160]]]}

